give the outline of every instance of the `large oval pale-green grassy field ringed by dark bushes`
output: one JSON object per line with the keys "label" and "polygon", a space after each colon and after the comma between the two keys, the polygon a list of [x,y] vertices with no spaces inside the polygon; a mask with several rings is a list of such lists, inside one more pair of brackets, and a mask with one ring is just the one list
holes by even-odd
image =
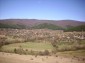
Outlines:
{"label": "large oval pale-green grassy field ringed by dark bushes", "polygon": [[53,49],[53,46],[50,43],[36,43],[36,42],[26,42],[26,43],[14,43],[14,44],[9,44],[9,45],[4,45],[2,46],[2,51],[9,51],[13,52],[14,49],[22,47],[23,49],[28,49],[28,50],[37,50],[37,51],[44,51],[44,50],[49,50],[51,51]]}

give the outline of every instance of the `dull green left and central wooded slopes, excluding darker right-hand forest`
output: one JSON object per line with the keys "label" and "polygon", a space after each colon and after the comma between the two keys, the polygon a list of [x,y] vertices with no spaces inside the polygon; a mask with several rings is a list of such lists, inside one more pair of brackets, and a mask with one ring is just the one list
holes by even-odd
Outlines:
{"label": "dull green left and central wooded slopes, excluding darker right-hand forest", "polygon": [[35,25],[33,27],[29,27],[26,25],[22,25],[22,24],[2,24],[0,23],[0,28],[13,28],[13,29],[52,29],[52,30],[62,30],[62,27],[53,25],[53,24],[48,24],[48,23],[43,23],[43,24],[39,24],[39,25]]}

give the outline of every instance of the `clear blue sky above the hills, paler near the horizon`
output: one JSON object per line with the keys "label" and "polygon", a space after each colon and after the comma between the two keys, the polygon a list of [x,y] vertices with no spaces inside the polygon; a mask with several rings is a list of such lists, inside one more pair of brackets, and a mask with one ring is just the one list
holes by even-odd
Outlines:
{"label": "clear blue sky above the hills, paler near the horizon", "polygon": [[85,0],[0,0],[0,19],[85,21]]}

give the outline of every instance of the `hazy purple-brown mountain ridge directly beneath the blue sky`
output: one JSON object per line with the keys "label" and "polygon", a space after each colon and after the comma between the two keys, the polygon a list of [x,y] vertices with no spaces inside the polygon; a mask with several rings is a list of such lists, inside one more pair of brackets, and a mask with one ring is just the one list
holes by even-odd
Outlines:
{"label": "hazy purple-brown mountain ridge directly beneath the blue sky", "polygon": [[56,26],[64,27],[64,28],[66,28],[68,25],[69,26],[85,25],[85,22],[80,22],[76,20],[38,20],[38,19],[3,19],[3,20],[0,20],[0,23],[8,24],[8,25],[22,24],[25,26],[35,26],[42,23],[48,23],[48,24],[53,24]]}

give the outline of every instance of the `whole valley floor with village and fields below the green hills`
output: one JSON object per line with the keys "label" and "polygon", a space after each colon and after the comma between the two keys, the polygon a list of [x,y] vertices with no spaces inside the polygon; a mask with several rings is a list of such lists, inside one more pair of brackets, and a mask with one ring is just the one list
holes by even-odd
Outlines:
{"label": "whole valley floor with village and fields below the green hills", "polygon": [[0,29],[1,63],[84,63],[85,32]]}

